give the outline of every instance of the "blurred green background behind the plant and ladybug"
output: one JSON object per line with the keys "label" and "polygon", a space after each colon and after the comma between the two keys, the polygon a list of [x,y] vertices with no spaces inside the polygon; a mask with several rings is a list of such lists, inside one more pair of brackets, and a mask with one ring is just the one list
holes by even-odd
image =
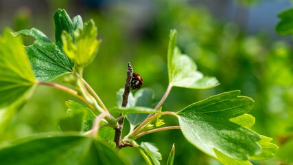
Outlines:
{"label": "blurred green background behind the plant and ladybug", "polygon": [[[240,89],[255,100],[252,129],[274,138],[280,147],[274,158],[253,164],[293,164],[293,43],[290,37],[274,33],[277,14],[290,5],[290,1],[270,0],[0,0],[0,30],[37,28],[54,41],[53,14],[58,8],[67,10],[71,18],[80,14],[84,22],[93,19],[102,45],[84,78],[111,108],[116,106],[116,91],[124,87],[128,61],[143,77],[143,87],[153,89],[156,101],[161,99],[168,83],[169,30],[175,28],[182,52],[221,85],[204,90],[174,87],[163,111],[178,111],[214,94]],[[25,38],[26,45],[33,41]],[[60,79],[55,81],[62,83]],[[66,100],[78,99],[37,87],[0,140],[58,131]],[[168,125],[178,124],[174,117],[164,119]],[[174,164],[220,164],[191,146],[178,130],[146,135],[138,142],[154,142],[163,155],[162,164],[173,143]],[[145,164],[135,149],[122,151],[134,164]]]}

